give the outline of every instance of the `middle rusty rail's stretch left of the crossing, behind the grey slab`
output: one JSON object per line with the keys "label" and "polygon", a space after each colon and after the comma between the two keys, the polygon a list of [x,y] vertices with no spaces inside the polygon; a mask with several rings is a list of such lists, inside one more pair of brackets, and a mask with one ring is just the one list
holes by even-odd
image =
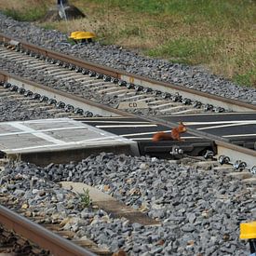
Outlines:
{"label": "middle rusty rail's stretch left of the crossing, behind the grey slab", "polygon": [[5,81],[10,84],[16,85],[18,87],[24,88],[26,90],[31,90],[33,92],[39,93],[41,95],[47,96],[49,99],[55,99],[56,101],[63,101],[65,103],[74,105],[74,107],[79,107],[81,109],[88,109],[97,115],[103,116],[131,116],[127,112],[120,111],[115,108],[111,108],[106,105],[102,105],[95,101],[88,101],[84,98],[75,96],[73,94],[55,89],[48,88],[47,86],[39,85],[33,81],[26,80],[17,76],[15,74],[8,74],[7,72],[0,71],[0,81]]}

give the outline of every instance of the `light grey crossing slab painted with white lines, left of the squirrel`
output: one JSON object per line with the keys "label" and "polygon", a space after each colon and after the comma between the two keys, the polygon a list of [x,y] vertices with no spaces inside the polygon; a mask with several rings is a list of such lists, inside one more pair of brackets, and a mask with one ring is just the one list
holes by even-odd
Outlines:
{"label": "light grey crossing slab painted with white lines, left of the squirrel", "polygon": [[101,152],[139,155],[136,142],[70,118],[0,123],[0,151],[40,166]]}

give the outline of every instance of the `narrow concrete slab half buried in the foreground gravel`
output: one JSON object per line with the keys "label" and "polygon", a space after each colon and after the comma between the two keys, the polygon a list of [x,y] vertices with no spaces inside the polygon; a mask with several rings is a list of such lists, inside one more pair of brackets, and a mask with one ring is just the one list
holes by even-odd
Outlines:
{"label": "narrow concrete slab half buried in the foreground gravel", "polygon": [[111,195],[101,192],[99,189],[88,186],[82,182],[61,182],[63,188],[73,190],[75,193],[83,194],[84,190],[89,190],[92,204],[100,209],[104,209],[114,218],[125,217],[129,222],[139,222],[143,225],[158,225],[160,222],[149,218],[139,210],[132,209],[124,203],[117,201]]}

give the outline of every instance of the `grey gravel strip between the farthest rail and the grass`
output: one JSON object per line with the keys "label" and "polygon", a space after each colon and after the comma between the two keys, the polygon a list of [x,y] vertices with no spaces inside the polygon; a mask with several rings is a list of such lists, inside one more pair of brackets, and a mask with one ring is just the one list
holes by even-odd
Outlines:
{"label": "grey gravel strip between the farthest rail and the grass", "polygon": [[255,89],[239,87],[227,79],[210,74],[202,67],[155,60],[122,47],[102,46],[99,42],[72,45],[67,40],[67,34],[61,34],[56,30],[46,30],[29,22],[12,20],[1,13],[0,31],[10,36],[15,34],[21,40],[64,54],[74,55],[85,61],[94,61],[128,73],[141,74],[230,99],[256,103]]}

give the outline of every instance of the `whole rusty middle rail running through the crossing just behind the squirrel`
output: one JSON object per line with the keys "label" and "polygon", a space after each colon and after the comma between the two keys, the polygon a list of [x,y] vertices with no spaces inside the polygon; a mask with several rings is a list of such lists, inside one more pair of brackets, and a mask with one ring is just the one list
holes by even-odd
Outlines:
{"label": "whole rusty middle rail running through the crossing just behind the squirrel", "polygon": [[[69,103],[74,103],[74,101],[70,101],[71,100],[75,100],[75,102],[83,102],[84,107],[90,108],[90,111],[95,111],[97,114],[99,115],[112,115],[112,116],[130,116],[130,117],[136,117],[137,115],[134,114],[128,114],[125,111],[121,111],[121,110],[116,110],[114,108],[105,106],[105,105],[101,105],[100,103],[94,102],[94,101],[88,101],[85,100],[83,98],[74,96],[74,95],[70,95],[69,93],[57,90],[57,89],[53,89],[53,88],[47,88],[46,86],[42,86],[42,85],[38,85],[32,81],[20,78],[17,75],[14,74],[7,74],[6,72],[2,72],[0,71],[0,81],[8,81],[10,83],[14,83],[15,85],[19,85],[23,88],[26,89],[34,89],[36,90],[36,92],[38,93],[40,90],[42,90],[42,92],[46,92],[49,93],[53,93],[53,95],[51,95],[52,97],[55,97],[55,99],[60,100],[60,101],[66,101]],[[65,98],[58,98],[58,95],[62,95]],[[59,96],[60,97],[60,96]],[[177,126],[177,123],[174,122],[170,122],[167,120],[163,120],[159,117],[155,117],[155,116],[140,116],[141,119],[145,120],[145,121],[150,121],[150,122],[155,122],[158,124],[162,124],[168,127],[175,127]],[[199,136],[202,138],[207,138],[207,139],[211,139],[212,141],[214,141],[217,145],[217,151],[218,151],[218,155],[228,155],[231,159],[231,162],[234,163],[236,160],[243,160],[246,161],[248,164],[248,168],[252,168],[256,165],[256,151],[253,150],[249,150],[247,148],[241,147],[241,146],[237,146],[236,144],[230,143],[227,139],[218,137],[216,135],[212,135],[203,131],[198,131],[192,128],[187,128],[187,131],[195,136]]]}

